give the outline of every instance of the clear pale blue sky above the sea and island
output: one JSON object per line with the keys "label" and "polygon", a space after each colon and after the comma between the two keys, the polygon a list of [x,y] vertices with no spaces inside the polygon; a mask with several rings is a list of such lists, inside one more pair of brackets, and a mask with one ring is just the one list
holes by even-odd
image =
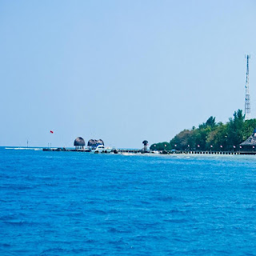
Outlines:
{"label": "clear pale blue sky above the sea and island", "polygon": [[[256,2],[0,0],[0,146],[141,148],[244,110]],[[54,130],[54,134],[50,134]]]}

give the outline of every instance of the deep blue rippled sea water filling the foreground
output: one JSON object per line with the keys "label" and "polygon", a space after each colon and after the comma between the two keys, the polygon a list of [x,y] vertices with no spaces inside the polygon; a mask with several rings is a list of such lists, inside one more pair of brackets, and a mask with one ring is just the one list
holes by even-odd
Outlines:
{"label": "deep blue rippled sea water filling the foreground", "polygon": [[0,148],[0,255],[255,255],[255,156]]}

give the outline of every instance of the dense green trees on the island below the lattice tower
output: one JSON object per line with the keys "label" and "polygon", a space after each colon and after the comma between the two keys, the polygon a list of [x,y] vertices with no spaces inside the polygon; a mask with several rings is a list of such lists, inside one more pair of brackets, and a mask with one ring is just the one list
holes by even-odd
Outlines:
{"label": "dense green trees on the island below the lattice tower", "polygon": [[236,150],[256,128],[256,119],[245,121],[242,110],[234,112],[229,122],[215,122],[214,117],[198,128],[182,130],[170,142],[154,143],[150,150]]}

